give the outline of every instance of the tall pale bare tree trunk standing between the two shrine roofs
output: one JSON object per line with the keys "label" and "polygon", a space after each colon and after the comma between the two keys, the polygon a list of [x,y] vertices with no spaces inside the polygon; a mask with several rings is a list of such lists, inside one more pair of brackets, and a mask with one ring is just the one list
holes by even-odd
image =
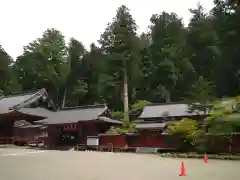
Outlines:
{"label": "tall pale bare tree trunk standing between the two shrine roofs", "polygon": [[123,82],[123,101],[124,101],[124,120],[129,120],[128,115],[128,76],[127,76],[127,70],[124,68],[123,70],[123,76],[124,76],[124,82]]}

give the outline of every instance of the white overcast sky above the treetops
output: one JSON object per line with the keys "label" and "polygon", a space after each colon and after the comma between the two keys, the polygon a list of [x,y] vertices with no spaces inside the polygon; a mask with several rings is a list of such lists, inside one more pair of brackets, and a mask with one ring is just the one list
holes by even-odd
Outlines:
{"label": "white overcast sky above the treetops", "polygon": [[0,0],[0,45],[14,59],[23,46],[56,28],[66,37],[81,41],[88,49],[96,42],[121,5],[126,5],[139,27],[146,32],[152,14],[175,12],[189,22],[189,8],[201,3],[206,11],[212,0]]}

